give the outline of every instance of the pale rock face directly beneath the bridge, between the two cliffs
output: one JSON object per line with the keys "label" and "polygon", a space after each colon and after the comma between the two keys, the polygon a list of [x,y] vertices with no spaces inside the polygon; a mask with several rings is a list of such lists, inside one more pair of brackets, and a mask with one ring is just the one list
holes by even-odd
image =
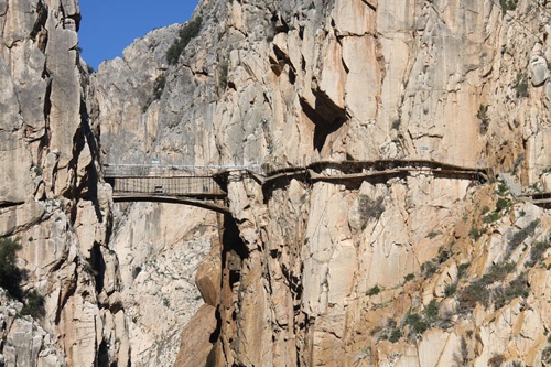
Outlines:
{"label": "pale rock face directly beneath the bridge, between the two cliffs", "polygon": [[[197,268],[204,258],[220,261],[208,256],[219,246],[216,223],[214,212],[173,204],[138,203],[117,213],[110,248],[119,283],[112,289],[125,310],[132,365],[174,364],[182,328],[204,303]],[[203,295],[205,302],[217,302],[219,266],[201,279],[213,292]]]}

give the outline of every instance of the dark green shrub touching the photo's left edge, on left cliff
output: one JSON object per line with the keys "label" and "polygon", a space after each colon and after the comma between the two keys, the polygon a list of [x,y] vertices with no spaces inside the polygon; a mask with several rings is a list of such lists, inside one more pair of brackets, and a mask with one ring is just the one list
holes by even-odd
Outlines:
{"label": "dark green shrub touching the photo's left edge, on left cliff", "polygon": [[18,240],[0,239],[0,287],[13,298],[21,299],[21,281],[25,272],[17,266],[17,252],[22,249]]}

